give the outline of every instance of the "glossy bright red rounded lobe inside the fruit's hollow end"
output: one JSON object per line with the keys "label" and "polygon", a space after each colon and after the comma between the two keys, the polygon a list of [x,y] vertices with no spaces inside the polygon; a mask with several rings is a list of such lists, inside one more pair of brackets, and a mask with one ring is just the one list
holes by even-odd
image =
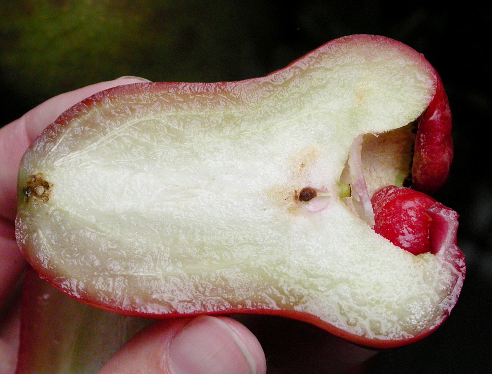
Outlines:
{"label": "glossy bright red rounded lobe inside the fruit's hollow end", "polygon": [[384,187],[371,199],[374,231],[414,255],[431,252],[427,210],[436,202],[410,188]]}

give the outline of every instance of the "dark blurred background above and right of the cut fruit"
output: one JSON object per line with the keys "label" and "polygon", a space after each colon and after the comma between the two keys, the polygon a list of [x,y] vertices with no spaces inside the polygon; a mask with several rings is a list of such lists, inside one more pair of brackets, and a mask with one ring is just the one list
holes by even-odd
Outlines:
{"label": "dark blurred background above and right of the cut fruit", "polygon": [[435,197],[460,213],[467,259],[445,324],[382,352],[370,373],[492,370],[490,5],[431,1],[0,0],[0,126],[45,99],[102,80],[228,81],[265,75],[339,36],[385,35],[423,53],[448,92],[455,161]]}

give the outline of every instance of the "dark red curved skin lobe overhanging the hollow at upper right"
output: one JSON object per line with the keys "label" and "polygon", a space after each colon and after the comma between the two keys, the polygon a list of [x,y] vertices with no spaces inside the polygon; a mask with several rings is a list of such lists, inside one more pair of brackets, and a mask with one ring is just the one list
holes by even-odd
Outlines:
{"label": "dark red curved skin lobe overhanging the hollow at upper right", "polygon": [[446,183],[454,156],[448,97],[434,75],[435,94],[418,125],[412,165],[412,188],[429,195]]}

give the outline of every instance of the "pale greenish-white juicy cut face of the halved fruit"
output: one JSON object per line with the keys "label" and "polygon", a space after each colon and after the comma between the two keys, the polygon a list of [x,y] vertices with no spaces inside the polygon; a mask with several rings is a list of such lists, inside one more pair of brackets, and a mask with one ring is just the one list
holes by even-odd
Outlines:
{"label": "pale greenish-white juicy cut face of the halved fruit", "polygon": [[[462,275],[376,234],[339,184],[358,137],[416,120],[434,90],[420,55],[355,37],[265,78],[97,94],[26,153],[19,246],[65,293],[120,313],[271,313],[411,341]],[[26,190],[32,175],[48,188]],[[306,187],[320,193],[300,201]]]}

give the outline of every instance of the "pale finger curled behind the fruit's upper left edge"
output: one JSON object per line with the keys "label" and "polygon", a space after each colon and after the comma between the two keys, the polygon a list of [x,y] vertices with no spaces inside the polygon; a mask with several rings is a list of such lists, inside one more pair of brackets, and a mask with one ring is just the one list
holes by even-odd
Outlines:
{"label": "pale finger curled behind the fruit's upper left edge", "polygon": [[114,86],[149,82],[138,77],[122,77],[55,96],[31,109],[21,118],[0,129],[0,218],[15,217],[15,190],[19,162],[31,142],[66,109],[92,94]]}

